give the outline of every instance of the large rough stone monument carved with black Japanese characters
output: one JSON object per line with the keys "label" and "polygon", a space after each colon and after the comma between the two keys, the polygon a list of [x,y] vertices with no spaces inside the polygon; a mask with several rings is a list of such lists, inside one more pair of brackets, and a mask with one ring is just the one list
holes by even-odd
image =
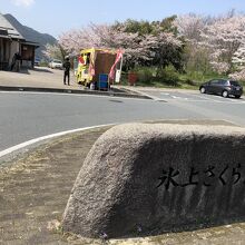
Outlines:
{"label": "large rough stone monument carved with black Japanese characters", "polygon": [[245,217],[245,129],[128,124],[92,146],[62,226],[85,237],[158,234]]}

